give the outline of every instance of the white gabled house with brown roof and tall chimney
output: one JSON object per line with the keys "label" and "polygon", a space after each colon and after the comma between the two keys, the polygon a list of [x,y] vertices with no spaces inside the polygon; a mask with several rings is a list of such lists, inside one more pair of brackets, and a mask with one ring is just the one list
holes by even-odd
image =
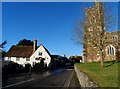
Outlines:
{"label": "white gabled house with brown roof and tall chimney", "polygon": [[31,64],[33,66],[35,63],[44,59],[44,63],[49,66],[51,62],[51,54],[49,51],[41,44],[37,46],[37,40],[34,39],[33,46],[15,46],[13,45],[5,56],[5,60],[10,60],[16,62],[20,65]]}

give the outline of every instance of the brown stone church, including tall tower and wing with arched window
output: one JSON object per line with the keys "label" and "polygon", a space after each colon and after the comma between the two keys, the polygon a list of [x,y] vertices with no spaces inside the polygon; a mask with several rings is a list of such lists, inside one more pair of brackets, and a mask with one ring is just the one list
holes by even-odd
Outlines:
{"label": "brown stone church, including tall tower and wing with arched window", "polygon": [[[92,41],[99,40],[96,34],[104,33],[104,9],[102,2],[96,2],[93,8],[86,8],[86,22],[84,26],[83,61],[100,61],[100,50]],[[104,47],[105,60],[114,60],[117,56],[117,32],[106,32]],[[99,41],[98,41],[99,42]]]}

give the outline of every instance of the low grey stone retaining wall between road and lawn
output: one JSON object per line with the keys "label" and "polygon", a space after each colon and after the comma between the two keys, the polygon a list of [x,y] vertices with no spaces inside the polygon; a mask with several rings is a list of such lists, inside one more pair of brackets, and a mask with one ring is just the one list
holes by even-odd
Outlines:
{"label": "low grey stone retaining wall between road and lawn", "polygon": [[79,83],[81,87],[91,87],[91,88],[98,88],[99,86],[94,82],[91,81],[87,75],[81,72],[76,66],[74,66],[75,72],[77,74]]}

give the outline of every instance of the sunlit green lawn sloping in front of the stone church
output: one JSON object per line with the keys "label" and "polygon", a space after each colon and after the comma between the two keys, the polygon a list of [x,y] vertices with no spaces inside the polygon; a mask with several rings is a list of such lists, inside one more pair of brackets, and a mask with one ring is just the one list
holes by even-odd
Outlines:
{"label": "sunlit green lawn sloping in front of the stone church", "polygon": [[100,63],[75,64],[82,72],[94,80],[100,87],[118,87],[118,64],[120,62],[106,62],[103,68]]}

